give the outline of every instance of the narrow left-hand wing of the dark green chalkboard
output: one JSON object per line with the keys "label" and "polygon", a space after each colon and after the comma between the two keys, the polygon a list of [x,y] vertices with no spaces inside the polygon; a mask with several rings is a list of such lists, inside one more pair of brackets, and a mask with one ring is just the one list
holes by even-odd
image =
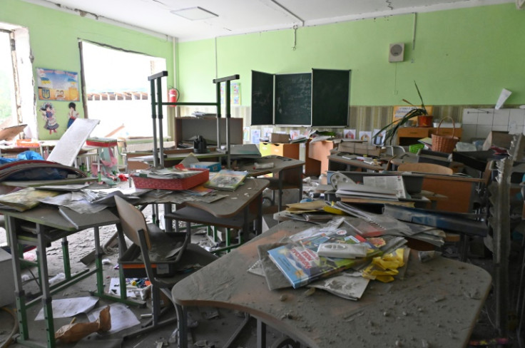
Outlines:
{"label": "narrow left-hand wing of the dark green chalkboard", "polygon": [[252,71],[252,126],[273,124],[273,74]]}

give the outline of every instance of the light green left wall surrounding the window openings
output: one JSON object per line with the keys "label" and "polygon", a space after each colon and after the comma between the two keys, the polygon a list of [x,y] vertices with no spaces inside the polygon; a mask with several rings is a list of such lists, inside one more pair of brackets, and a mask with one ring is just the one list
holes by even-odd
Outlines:
{"label": "light green left wall surrounding the window openings", "polygon": [[[34,68],[75,71],[80,76],[78,39],[83,39],[165,58],[170,74],[166,83],[168,86],[173,86],[172,41],[83,18],[76,14],[67,14],[43,6],[28,4],[20,0],[1,0],[0,21],[25,26],[29,29]],[[147,76],[144,78],[146,79]],[[36,103],[37,106],[40,106],[42,101]],[[66,131],[68,102],[53,101],[52,103],[56,108],[57,121],[61,126],[58,128],[58,133],[49,135],[49,132],[44,129],[44,121],[38,113],[36,119],[39,138],[43,140],[58,139]],[[83,116],[81,101],[77,102],[76,110]],[[151,120],[150,115],[145,115],[145,118],[146,122]]]}

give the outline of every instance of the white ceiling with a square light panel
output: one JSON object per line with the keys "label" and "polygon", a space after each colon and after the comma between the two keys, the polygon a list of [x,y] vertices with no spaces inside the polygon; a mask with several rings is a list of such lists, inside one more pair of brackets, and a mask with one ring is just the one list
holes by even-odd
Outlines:
{"label": "white ceiling with a square light panel", "polygon": [[[24,0],[178,38],[179,41],[314,26],[352,19],[484,6],[514,0]],[[519,1],[519,0],[516,0]],[[190,21],[171,10],[198,6],[217,14]]]}

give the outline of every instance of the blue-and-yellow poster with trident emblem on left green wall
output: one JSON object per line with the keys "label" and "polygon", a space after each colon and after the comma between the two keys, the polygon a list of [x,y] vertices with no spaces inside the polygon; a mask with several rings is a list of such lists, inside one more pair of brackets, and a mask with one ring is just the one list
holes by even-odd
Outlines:
{"label": "blue-and-yellow poster with trident emblem on left green wall", "polygon": [[36,68],[41,101],[78,101],[78,73]]}

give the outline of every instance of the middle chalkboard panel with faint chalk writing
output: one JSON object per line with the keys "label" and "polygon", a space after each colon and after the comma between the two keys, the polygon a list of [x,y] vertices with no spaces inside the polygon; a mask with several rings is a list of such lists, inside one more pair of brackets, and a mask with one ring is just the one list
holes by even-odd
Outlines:
{"label": "middle chalkboard panel with faint chalk writing", "polygon": [[275,124],[312,123],[312,74],[275,75]]}

